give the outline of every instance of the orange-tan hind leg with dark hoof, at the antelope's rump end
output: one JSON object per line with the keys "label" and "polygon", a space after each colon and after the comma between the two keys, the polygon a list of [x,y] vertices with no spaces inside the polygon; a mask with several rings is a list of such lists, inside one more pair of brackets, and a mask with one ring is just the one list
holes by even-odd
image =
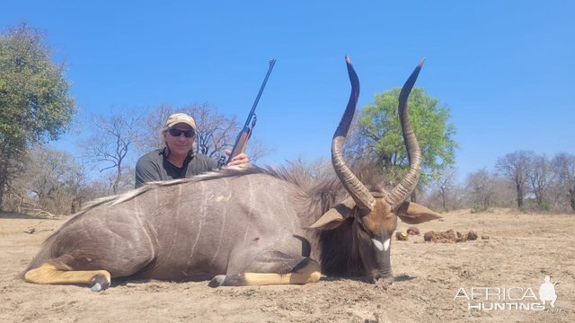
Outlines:
{"label": "orange-tan hind leg with dark hoof, at the antelope's rump end", "polygon": [[100,292],[111,284],[111,275],[106,270],[65,270],[49,263],[29,270],[24,279],[33,284],[91,284],[93,292]]}

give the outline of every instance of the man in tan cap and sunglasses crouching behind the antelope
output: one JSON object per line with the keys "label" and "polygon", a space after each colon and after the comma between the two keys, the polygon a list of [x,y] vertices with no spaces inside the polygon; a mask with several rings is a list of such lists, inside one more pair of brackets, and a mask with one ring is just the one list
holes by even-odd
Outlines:
{"label": "man in tan cap and sunglasses crouching behind the antelope", "polygon": [[[136,163],[136,188],[149,181],[184,179],[216,170],[217,162],[206,155],[194,153],[196,121],[185,113],[170,116],[162,129],[165,147],[146,153]],[[226,154],[231,152],[226,150]],[[245,153],[235,156],[227,165],[249,165]]]}

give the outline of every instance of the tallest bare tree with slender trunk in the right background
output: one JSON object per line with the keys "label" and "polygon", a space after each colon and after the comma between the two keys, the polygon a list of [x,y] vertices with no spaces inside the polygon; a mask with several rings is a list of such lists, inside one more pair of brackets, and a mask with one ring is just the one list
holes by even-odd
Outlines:
{"label": "tallest bare tree with slender trunk in the right background", "polygon": [[535,153],[527,151],[517,151],[508,153],[499,158],[495,168],[500,174],[511,181],[517,191],[517,206],[523,208],[523,199],[526,194],[527,178],[531,171],[531,161]]}

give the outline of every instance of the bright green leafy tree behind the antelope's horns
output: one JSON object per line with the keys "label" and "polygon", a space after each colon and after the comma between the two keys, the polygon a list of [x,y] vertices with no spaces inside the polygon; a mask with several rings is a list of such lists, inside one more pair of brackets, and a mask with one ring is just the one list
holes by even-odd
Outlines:
{"label": "bright green leafy tree behind the antelope's horns", "polygon": [[[354,136],[356,146],[350,149],[352,157],[367,157],[394,177],[402,176],[409,169],[397,115],[400,92],[401,88],[394,88],[378,93],[374,102],[362,109]],[[454,165],[457,144],[453,136],[456,128],[449,123],[450,109],[421,88],[413,88],[408,107],[411,126],[423,157],[420,181],[426,184],[440,170]]]}

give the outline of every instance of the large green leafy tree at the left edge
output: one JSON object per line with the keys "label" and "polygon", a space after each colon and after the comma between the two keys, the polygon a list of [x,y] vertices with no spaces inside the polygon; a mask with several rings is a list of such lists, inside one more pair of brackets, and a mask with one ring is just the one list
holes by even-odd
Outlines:
{"label": "large green leafy tree at the left edge", "polygon": [[56,140],[69,126],[69,87],[40,31],[22,22],[0,33],[0,207],[31,144]]}

